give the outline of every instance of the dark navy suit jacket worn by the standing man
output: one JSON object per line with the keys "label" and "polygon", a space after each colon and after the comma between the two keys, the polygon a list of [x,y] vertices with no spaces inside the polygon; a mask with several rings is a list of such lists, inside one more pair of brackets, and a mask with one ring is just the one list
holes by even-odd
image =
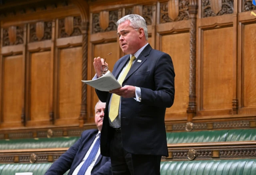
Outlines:
{"label": "dark navy suit jacket worn by the standing man", "polygon": [[[129,60],[130,55],[126,55],[116,62],[112,71],[116,79]],[[141,101],[121,97],[122,143],[128,153],[168,156],[164,116],[166,107],[174,102],[174,77],[172,58],[149,44],[130,68],[122,86],[140,87]],[[108,122],[111,93],[99,90],[96,93],[100,101],[106,102],[101,154],[110,156],[109,145],[114,132]]]}

